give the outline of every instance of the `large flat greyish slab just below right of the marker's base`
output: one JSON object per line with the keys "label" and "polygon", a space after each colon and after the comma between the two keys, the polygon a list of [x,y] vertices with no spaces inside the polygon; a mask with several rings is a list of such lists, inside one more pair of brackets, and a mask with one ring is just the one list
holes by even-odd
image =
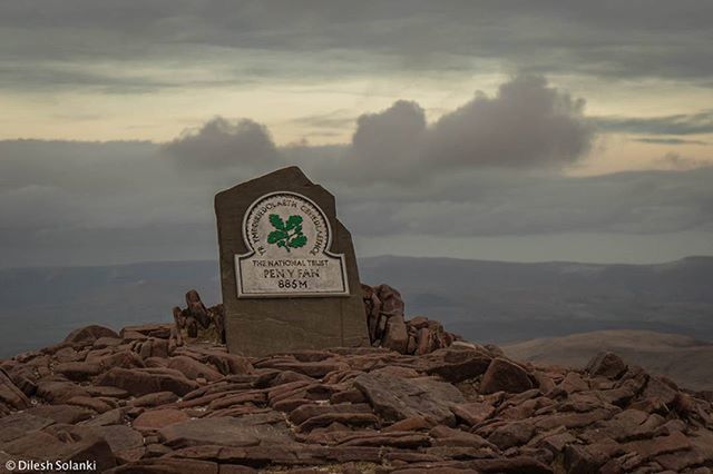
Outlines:
{"label": "large flat greyish slab just below right of the marker's base", "polygon": [[387,374],[364,374],[354,379],[374,412],[384,421],[398,422],[412,416],[446,425],[456,423],[450,411],[463,403],[462,394],[452,385],[431,378],[399,378]]}

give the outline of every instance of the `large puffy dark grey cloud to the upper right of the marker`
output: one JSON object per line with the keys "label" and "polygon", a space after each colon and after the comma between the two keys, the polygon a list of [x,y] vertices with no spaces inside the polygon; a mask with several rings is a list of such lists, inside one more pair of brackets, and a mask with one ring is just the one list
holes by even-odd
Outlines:
{"label": "large puffy dark grey cloud to the upper right of the marker", "polygon": [[494,97],[476,93],[431,125],[417,102],[400,100],[356,120],[350,176],[412,180],[471,167],[561,167],[585,157],[595,138],[584,105],[541,77],[516,77]]}

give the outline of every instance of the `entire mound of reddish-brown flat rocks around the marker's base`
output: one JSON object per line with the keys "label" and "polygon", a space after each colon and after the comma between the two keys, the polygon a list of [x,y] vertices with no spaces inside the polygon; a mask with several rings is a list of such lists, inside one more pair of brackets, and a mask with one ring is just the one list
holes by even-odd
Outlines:
{"label": "entire mound of reddish-brown flat rocks around the marker's base", "polygon": [[[436,322],[406,320],[393,288],[364,288],[364,299],[374,347],[227,354],[198,337],[222,312],[189,293],[175,324],[118,334],[88,326],[61,344],[2,361],[0,465],[88,460],[110,473],[711,473],[710,394],[682,389],[611,353],[578,371],[517,363]],[[214,335],[222,337],[217,327]]]}

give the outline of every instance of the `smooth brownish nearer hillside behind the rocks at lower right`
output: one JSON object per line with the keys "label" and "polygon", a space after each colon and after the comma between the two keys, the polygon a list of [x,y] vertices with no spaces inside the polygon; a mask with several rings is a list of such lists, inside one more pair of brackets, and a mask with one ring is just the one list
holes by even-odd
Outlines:
{"label": "smooth brownish nearer hillside behind the rocks at lower right", "polygon": [[713,344],[647,330],[599,330],[526,340],[501,347],[518,361],[583,367],[594,355],[612,350],[628,364],[665,375],[699,391],[713,391]]}

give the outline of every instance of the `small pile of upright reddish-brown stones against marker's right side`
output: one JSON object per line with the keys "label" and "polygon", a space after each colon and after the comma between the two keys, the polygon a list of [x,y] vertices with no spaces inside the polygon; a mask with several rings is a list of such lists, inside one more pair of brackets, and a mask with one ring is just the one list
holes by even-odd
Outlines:
{"label": "small pile of upright reddish-brown stones against marker's right side", "polygon": [[374,347],[423,355],[450,346],[459,337],[437,320],[417,316],[407,320],[401,294],[389,285],[362,285],[369,338]]}

